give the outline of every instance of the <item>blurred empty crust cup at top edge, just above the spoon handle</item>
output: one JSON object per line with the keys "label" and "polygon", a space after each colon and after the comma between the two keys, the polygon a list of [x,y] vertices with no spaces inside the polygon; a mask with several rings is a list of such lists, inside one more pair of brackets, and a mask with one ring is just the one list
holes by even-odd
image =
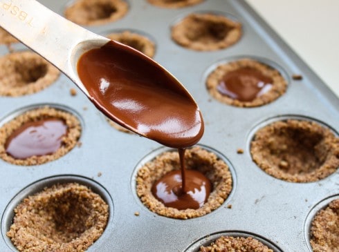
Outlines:
{"label": "blurred empty crust cup at top edge, just above the spoon handle", "polygon": [[82,26],[96,26],[121,19],[129,6],[123,0],[77,0],[66,8],[66,19]]}

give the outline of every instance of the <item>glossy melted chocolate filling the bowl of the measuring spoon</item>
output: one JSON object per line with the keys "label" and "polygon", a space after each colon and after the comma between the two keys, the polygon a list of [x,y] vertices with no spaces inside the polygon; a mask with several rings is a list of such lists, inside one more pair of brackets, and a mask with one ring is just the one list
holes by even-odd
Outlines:
{"label": "glossy melted chocolate filling the bowl of the measuring spoon", "polygon": [[152,59],[122,47],[109,41],[77,62],[93,104],[118,124],[165,146],[199,142],[203,119],[187,90]]}

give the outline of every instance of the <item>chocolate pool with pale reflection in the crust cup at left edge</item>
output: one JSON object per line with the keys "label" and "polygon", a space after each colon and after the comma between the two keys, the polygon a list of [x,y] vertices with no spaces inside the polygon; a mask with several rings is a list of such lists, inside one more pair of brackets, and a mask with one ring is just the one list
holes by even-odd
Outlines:
{"label": "chocolate pool with pale reflection in the crust cup at left edge", "polygon": [[61,146],[67,126],[61,119],[27,122],[8,137],[6,152],[17,159],[55,153]]}

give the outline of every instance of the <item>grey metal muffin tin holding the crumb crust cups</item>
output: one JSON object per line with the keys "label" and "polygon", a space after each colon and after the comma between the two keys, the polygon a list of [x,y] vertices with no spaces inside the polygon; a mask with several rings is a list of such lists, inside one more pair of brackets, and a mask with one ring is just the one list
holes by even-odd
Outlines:
{"label": "grey metal muffin tin holding the crumb crust cups", "polygon": [[[59,14],[69,3],[41,2]],[[75,111],[82,122],[82,146],[53,162],[26,167],[0,159],[0,251],[16,251],[6,237],[12,218],[8,209],[37,188],[57,181],[92,186],[111,207],[107,229],[88,251],[196,251],[199,245],[223,233],[253,235],[273,244],[275,251],[310,251],[308,220],[320,202],[338,197],[339,171],[319,182],[297,184],[277,180],[252,161],[249,144],[259,127],[290,117],[315,120],[336,131],[339,99],[245,1],[206,0],[181,9],[158,8],[145,0],[128,3],[125,17],[89,29],[102,35],[122,29],[138,30],[155,40],[154,59],[170,70],[196,99],[205,119],[205,134],[200,143],[228,159],[232,175],[236,176],[235,190],[219,209],[192,220],[174,220],[150,212],[136,195],[134,176],[140,162],[158,153],[161,146],[112,128],[80,90],[75,97],[69,94],[75,86],[61,75],[55,84],[34,95],[0,97],[1,125],[28,106],[42,104]],[[196,52],[182,48],[172,41],[170,27],[192,12],[223,12],[235,17],[242,23],[244,35],[224,50]],[[21,44],[11,48],[25,49]],[[8,48],[0,46],[0,54],[6,53]],[[212,99],[205,88],[211,66],[239,56],[259,57],[279,66],[288,81],[286,94],[257,108],[238,108]],[[300,74],[303,79],[295,81],[291,78],[293,74]],[[245,153],[237,154],[237,148],[243,148]],[[102,175],[98,176],[99,173]],[[140,215],[134,215],[135,212]]]}

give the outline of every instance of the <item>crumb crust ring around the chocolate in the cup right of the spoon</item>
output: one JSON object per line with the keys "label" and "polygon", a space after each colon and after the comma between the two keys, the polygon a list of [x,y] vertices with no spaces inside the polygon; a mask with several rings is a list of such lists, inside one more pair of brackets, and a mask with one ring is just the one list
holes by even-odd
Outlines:
{"label": "crumb crust ring around the chocolate in the cup right of the spoon", "polygon": [[[222,81],[224,75],[226,75],[228,72],[232,72],[241,68],[253,68],[259,72],[262,72],[262,74],[266,77],[270,77],[273,80],[272,88],[268,92],[264,93],[264,95],[260,95],[259,97],[253,99],[253,101],[239,101],[238,99],[232,99],[227,95],[222,95],[217,90],[217,87]],[[217,66],[217,68],[215,68],[210,73],[210,75],[208,75],[208,78],[206,79],[206,88],[208,89],[210,95],[214,97],[214,99],[217,99],[224,104],[238,107],[257,107],[275,101],[275,99],[284,95],[287,89],[287,81],[284,79],[284,77],[282,77],[278,70],[271,68],[271,66],[253,59],[239,59],[237,61],[232,61]]]}

